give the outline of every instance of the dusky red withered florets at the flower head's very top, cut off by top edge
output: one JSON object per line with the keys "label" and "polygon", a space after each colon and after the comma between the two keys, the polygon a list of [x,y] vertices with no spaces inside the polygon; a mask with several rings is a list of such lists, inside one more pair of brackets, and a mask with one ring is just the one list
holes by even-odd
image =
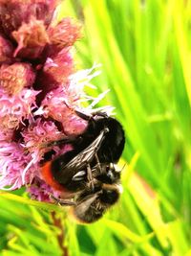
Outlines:
{"label": "dusky red withered florets at the flower head's very top, cut off by top edge", "polygon": [[49,26],[59,0],[0,0],[0,31],[11,36],[23,23],[32,18]]}

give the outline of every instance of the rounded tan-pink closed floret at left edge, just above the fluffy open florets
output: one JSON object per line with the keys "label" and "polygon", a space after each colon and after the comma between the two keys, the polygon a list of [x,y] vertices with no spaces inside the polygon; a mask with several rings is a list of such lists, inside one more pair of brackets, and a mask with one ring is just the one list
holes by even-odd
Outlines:
{"label": "rounded tan-pink closed floret at left edge, just above the fluffy open florets", "polygon": [[18,94],[24,87],[31,87],[35,79],[32,65],[17,62],[0,67],[0,87],[10,94]]}

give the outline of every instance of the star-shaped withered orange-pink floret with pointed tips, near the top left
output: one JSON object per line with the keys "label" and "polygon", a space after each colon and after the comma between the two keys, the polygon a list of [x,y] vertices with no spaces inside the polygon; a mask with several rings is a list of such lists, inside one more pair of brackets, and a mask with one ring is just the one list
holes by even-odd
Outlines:
{"label": "star-shaped withered orange-pink floret with pointed tips, near the top left", "polygon": [[23,23],[12,36],[18,43],[14,57],[19,58],[40,58],[45,45],[49,42],[44,22],[33,18],[29,23]]}

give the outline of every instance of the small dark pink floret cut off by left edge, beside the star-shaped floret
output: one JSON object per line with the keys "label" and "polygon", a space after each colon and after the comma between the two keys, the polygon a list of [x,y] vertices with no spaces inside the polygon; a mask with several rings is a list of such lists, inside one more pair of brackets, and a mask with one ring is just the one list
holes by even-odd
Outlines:
{"label": "small dark pink floret cut off by left edge, beside the star-shaped floret", "polygon": [[7,63],[11,60],[13,46],[11,42],[0,35],[0,63]]}

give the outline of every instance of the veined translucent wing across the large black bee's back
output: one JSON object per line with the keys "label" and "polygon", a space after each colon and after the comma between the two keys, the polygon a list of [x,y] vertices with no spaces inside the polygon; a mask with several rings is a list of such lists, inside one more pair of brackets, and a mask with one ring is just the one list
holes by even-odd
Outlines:
{"label": "veined translucent wing across the large black bee's back", "polygon": [[87,163],[95,158],[96,151],[100,148],[101,142],[104,139],[104,135],[107,132],[107,129],[103,129],[100,134],[96,137],[93,143],[88,146],[85,150],[79,152],[74,158],[63,166],[63,169],[73,169],[73,170],[84,170]]}

